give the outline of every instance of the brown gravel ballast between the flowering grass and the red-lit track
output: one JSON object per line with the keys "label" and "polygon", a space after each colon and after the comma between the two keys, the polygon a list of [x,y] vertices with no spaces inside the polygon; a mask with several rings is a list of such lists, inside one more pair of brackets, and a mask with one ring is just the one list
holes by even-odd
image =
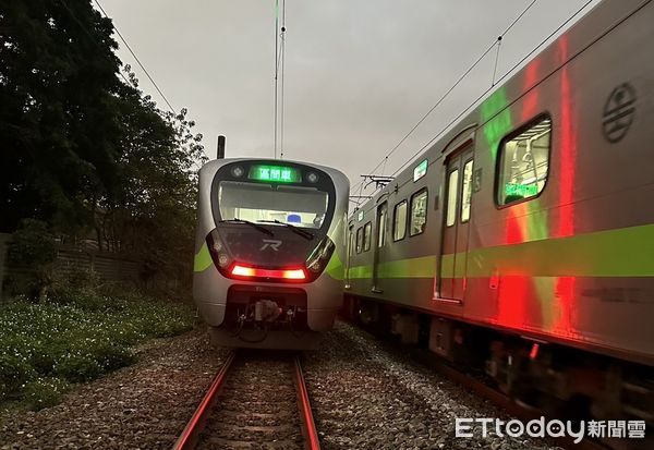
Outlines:
{"label": "brown gravel ballast between the flowering grass and the red-lit track", "polygon": [[57,406],[0,412],[0,449],[170,449],[227,351],[205,327],[138,349],[138,362],[80,386]]}

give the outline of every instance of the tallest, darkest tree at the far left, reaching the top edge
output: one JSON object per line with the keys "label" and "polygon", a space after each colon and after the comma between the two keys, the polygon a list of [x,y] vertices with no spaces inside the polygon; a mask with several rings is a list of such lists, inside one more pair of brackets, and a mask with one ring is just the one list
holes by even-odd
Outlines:
{"label": "tallest, darkest tree at the far left, reaching the top edge", "polygon": [[23,217],[88,221],[86,195],[114,185],[120,61],[111,21],[89,1],[2,2],[0,230]]}

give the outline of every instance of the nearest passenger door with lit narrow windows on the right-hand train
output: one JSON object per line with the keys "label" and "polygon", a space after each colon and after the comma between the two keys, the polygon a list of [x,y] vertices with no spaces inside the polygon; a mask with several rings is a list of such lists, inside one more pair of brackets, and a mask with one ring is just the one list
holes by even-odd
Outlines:
{"label": "nearest passenger door with lit narrow windows on the right-hand train", "polygon": [[472,198],[473,148],[467,145],[447,160],[443,245],[440,251],[440,297],[463,300],[470,204]]}

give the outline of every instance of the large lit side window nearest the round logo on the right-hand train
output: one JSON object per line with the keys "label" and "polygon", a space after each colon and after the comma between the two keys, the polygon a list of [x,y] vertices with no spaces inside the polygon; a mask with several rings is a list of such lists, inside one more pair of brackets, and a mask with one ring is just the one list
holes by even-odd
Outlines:
{"label": "large lit side window nearest the round logo on the right-hand train", "polygon": [[496,199],[499,206],[537,196],[547,180],[552,120],[541,117],[502,139]]}

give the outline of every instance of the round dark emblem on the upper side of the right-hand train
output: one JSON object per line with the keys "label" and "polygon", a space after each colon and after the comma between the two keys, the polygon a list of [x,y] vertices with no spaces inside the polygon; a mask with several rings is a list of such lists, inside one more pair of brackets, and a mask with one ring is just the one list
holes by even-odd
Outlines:
{"label": "round dark emblem on the upper side of the right-hand train", "polygon": [[627,135],[635,112],[635,90],[629,83],[617,86],[604,105],[602,129],[606,139],[615,144]]}

